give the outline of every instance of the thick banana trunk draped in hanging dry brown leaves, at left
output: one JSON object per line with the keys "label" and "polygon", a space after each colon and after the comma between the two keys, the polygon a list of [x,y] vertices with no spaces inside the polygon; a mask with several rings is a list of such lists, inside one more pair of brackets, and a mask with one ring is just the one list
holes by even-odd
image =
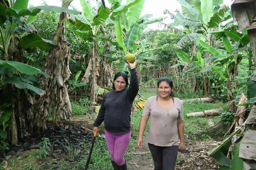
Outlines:
{"label": "thick banana trunk draped in hanging dry brown leaves, at left", "polygon": [[37,131],[40,131],[40,127],[47,128],[50,107],[52,108],[52,117],[55,117],[55,119],[58,114],[60,114],[61,120],[71,118],[72,109],[67,92],[71,54],[69,50],[70,43],[63,38],[65,21],[66,13],[63,12],[60,14],[59,23],[54,33],[54,41],[58,43],[58,46],[50,50],[45,63],[44,71],[51,78],[42,79],[42,89],[45,92],[44,96],[40,97],[38,101],[37,114],[33,119],[33,123],[37,125]]}

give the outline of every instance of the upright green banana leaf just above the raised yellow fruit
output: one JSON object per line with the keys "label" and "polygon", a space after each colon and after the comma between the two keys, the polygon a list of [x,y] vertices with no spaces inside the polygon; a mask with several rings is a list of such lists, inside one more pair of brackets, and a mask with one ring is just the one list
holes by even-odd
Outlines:
{"label": "upright green banana leaf just above the raised yellow fruit", "polygon": [[135,23],[131,29],[129,30],[126,39],[124,40],[124,44],[126,47],[126,50],[131,50],[133,47],[133,44],[136,40],[136,37],[138,35],[138,29],[139,29],[139,24]]}

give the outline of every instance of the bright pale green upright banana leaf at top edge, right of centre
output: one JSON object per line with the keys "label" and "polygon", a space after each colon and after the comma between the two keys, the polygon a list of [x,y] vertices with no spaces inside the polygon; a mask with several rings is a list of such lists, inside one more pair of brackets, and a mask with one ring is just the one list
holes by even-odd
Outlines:
{"label": "bright pale green upright banana leaf at top edge, right of centre", "polygon": [[212,0],[201,1],[201,13],[202,13],[202,20],[207,25],[207,23],[211,20],[211,17],[213,16]]}

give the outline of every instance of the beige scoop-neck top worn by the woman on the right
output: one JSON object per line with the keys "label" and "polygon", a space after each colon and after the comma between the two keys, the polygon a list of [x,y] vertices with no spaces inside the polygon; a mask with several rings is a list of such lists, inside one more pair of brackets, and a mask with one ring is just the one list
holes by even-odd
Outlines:
{"label": "beige scoop-neck top worn by the woman on the right", "polygon": [[162,108],[157,104],[156,96],[149,97],[142,116],[150,116],[147,142],[156,146],[179,145],[177,119],[183,120],[183,105],[174,97],[171,108]]}

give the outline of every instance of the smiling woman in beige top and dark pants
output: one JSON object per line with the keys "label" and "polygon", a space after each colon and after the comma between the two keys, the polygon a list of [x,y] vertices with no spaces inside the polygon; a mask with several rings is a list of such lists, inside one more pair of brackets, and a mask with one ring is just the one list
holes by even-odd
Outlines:
{"label": "smiling woman in beige top and dark pants", "polygon": [[170,78],[157,81],[158,95],[147,99],[139,125],[137,148],[141,149],[142,135],[150,116],[147,142],[154,170],[174,170],[178,149],[185,149],[183,105],[174,97],[173,89]]}

